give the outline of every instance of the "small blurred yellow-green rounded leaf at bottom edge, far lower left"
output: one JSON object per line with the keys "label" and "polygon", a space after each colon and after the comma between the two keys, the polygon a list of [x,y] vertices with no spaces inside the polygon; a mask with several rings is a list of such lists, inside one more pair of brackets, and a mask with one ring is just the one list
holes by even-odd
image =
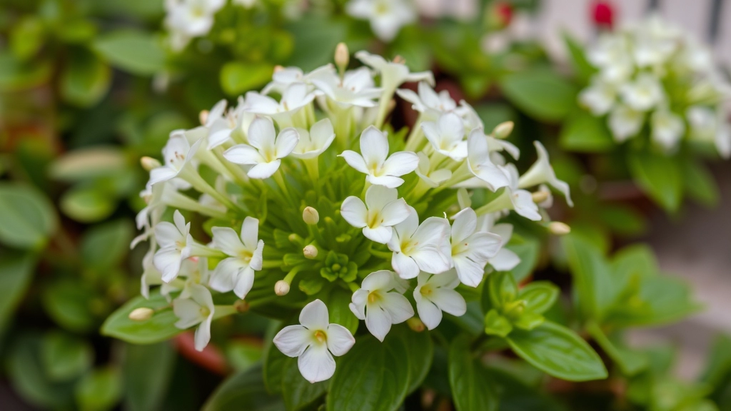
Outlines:
{"label": "small blurred yellow-green rounded leaf at bottom edge, far lower left", "polygon": [[111,410],[122,396],[121,374],[112,367],[95,369],[83,377],[75,391],[80,410]]}

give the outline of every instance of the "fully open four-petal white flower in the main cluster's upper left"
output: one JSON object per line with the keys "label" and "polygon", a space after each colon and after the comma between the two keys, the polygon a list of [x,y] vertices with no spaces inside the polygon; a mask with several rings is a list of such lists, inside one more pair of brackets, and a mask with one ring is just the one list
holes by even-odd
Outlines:
{"label": "fully open four-petal white flower in the main cluster's upper left", "polygon": [[287,157],[299,142],[297,130],[288,127],[276,135],[269,118],[258,117],[251,121],[249,144],[238,144],[224,152],[230,162],[254,165],[246,173],[251,178],[269,178],[279,170],[281,159]]}

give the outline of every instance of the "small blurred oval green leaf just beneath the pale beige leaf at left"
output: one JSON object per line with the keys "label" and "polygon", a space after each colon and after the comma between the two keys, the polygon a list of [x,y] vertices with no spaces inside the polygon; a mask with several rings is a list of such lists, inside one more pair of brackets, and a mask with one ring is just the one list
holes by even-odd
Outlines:
{"label": "small blurred oval green leaf just beneath the pale beige leaf at left", "polygon": [[79,186],[61,196],[61,211],[77,222],[98,222],[110,216],[117,204],[96,186]]}

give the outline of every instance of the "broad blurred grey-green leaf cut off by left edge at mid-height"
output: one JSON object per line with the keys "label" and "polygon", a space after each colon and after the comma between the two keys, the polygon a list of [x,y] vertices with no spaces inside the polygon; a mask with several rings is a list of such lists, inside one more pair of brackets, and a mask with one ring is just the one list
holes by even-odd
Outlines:
{"label": "broad blurred grey-green leaf cut off by left edge at mid-height", "polygon": [[0,243],[19,249],[42,249],[58,228],[47,197],[33,186],[0,183]]}

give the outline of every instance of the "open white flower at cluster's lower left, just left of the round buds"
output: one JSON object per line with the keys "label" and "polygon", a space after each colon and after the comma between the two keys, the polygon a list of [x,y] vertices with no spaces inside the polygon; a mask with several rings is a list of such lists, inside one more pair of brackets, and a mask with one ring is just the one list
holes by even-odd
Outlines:
{"label": "open white flower at cluster's lower left, just left of the round buds", "polygon": [[254,271],[262,269],[264,241],[259,239],[259,220],[247,216],[240,235],[231,227],[213,227],[211,231],[213,247],[229,256],[216,265],[211,288],[221,293],[233,290],[243,300],[254,284]]}

